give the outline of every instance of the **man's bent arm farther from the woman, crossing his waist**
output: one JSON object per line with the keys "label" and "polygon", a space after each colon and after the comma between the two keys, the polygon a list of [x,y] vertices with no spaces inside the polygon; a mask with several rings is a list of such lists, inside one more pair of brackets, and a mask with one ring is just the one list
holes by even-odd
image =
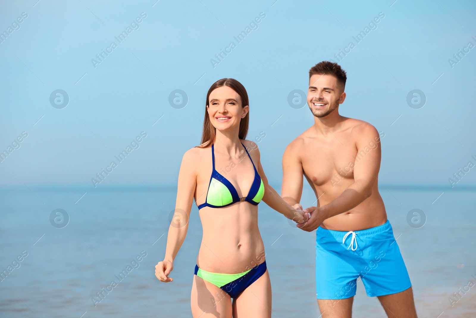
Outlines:
{"label": "man's bent arm farther from the woman, crossing his waist", "polygon": [[[304,210],[311,213],[311,218],[306,225],[298,226],[301,229],[309,232],[313,231],[325,219],[347,212],[372,195],[372,188],[377,181],[382,156],[380,137],[377,129],[371,124],[357,126],[353,130],[352,133],[359,136],[356,142],[357,157],[354,163],[354,183],[344,190],[337,199],[327,205],[311,206]],[[376,145],[375,149],[371,148],[372,144]]]}

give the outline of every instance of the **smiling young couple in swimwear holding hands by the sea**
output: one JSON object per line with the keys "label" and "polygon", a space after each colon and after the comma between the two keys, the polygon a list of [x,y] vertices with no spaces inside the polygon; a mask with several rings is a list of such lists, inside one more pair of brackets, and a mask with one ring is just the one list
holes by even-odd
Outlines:
{"label": "smiling young couple in swimwear holding hands by the sea", "polygon": [[[281,195],[268,185],[258,147],[245,140],[248,94],[221,79],[207,93],[201,144],[188,150],[178,174],[176,211],[183,224],[169,228],[161,282],[187,234],[195,199],[203,238],[193,277],[194,318],[271,317],[271,283],[258,229],[264,201],[305,231],[316,231],[316,288],[322,317],[351,317],[360,277],[388,317],[417,317],[407,269],[378,193],[380,136],[374,126],[339,115],[346,72],[320,62],[309,71],[307,104],[314,125],[288,145]],[[226,176],[218,173],[226,170]],[[303,175],[317,206],[303,211]],[[233,301],[232,301],[233,299]],[[298,313],[297,313],[298,315]]]}

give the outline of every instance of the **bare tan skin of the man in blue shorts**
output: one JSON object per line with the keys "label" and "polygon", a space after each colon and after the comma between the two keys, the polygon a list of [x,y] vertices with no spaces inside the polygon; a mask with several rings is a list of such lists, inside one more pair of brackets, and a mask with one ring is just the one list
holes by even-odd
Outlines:
{"label": "bare tan skin of the man in blue shorts", "polygon": [[[344,87],[335,76],[312,75],[307,104],[314,125],[290,143],[283,155],[281,195],[286,202],[302,208],[303,176],[318,198],[317,206],[304,210],[311,215],[309,221],[297,225],[308,232],[318,226],[357,231],[387,222],[377,181],[379,133],[369,123],[341,116],[338,106],[345,99]],[[378,299],[388,317],[417,317],[411,287]],[[318,299],[318,304],[323,318],[344,318],[352,316],[352,301],[353,297]]]}

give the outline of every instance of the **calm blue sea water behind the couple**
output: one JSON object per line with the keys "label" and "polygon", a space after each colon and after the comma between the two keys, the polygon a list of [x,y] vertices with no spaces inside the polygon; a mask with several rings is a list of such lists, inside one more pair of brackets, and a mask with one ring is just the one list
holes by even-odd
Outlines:
{"label": "calm blue sea water behind the couple", "polygon": [[[200,246],[196,236],[202,234],[197,207],[170,275],[174,282],[159,283],[154,276],[165,252],[174,189],[33,189],[36,195],[25,189],[3,189],[0,195],[0,269],[28,253],[0,282],[1,317],[191,317],[190,288]],[[440,318],[475,317],[476,286],[454,307],[448,297],[470,279],[476,281],[471,277],[476,276],[476,192],[380,192],[412,280],[419,317],[436,318],[442,312]],[[304,193],[303,205],[313,205],[312,195]],[[50,213],[57,208],[69,214],[64,228],[50,224]],[[427,218],[418,229],[407,224],[407,213],[414,208]],[[258,222],[273,317],[318,317],[314,233],[290,226],[265,204],[259,205]],[[141,251],[147,256],[132,262]],[[115,275],[131,262],[130,273],[119,282]],[[112,280],[119,284],[95,307],[91,298]],[[354,317],[385,317],[360,281]]]}

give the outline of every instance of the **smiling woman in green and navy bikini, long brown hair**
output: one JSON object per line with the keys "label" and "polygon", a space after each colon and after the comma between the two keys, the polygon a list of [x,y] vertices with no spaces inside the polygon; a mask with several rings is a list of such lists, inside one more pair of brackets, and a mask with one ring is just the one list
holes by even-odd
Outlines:
{"label": "smiling woman in green and navy bikini, long brown hair", "polygon": [[248,93],[240,82],[215,82],[207,93],[202,144],[188,150],[180,166],[175,211],[183,213],[183,223],[170,225],[165,257],[155,275],[172,281],[168,276],[195,199],[203,227],[191,293],[195,318],[271,317],[258,203],[264,201],[297,223],[307,219],[268,185],[257,145],[245,140],[248,111]]}

